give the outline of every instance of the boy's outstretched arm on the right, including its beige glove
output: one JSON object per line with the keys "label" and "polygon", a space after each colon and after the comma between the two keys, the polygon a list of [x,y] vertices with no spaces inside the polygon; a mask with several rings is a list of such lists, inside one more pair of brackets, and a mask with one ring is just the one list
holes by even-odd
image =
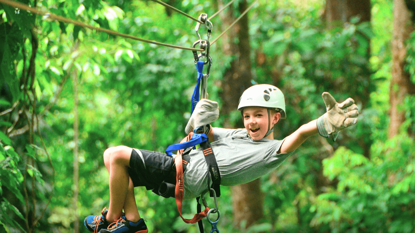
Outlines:
{"label": "boy's outstretched arm on the right, including its beige glove", "polygon": [[359,116],[358,107],[352,98],[342,103],[336,100],[328,92],[322,94],[327,112],[318,119],[300,126],[294,133],[286,137],[278,153],[294,151],[310,136],[319,133],[323,137],[332,137],[336,140],[340,130],[356,124]]}

